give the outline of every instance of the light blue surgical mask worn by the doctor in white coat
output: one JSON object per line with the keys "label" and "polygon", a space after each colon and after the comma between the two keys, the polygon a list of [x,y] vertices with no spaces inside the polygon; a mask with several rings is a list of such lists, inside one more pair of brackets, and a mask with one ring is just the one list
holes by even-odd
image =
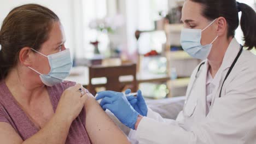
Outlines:
{"label": "light blue surgical mask worn by the doctor in white coat", "polygon": [[[216,21],[216,19],[214,20]],[[191,57],[198,59],[206,59],[211,52],[213,42],[218,38],[218,36],[212,41],[211,44],[201,45],[202,32],[214,22],[212,21],[204,29],[190,29],[184,28],[181,33],[181,45],[184,51],[186,51]]]}

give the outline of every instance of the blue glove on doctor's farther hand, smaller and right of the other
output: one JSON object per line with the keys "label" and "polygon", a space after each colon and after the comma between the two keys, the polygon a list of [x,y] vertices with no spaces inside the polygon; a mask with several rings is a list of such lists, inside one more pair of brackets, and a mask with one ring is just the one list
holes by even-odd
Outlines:
{"label": "blue glove on doctor's farther hand, smaller and right of the other", "polygon": [[[131,89],[126,89],[125,94],[131,93]],[[132,107],[142,116],[147,116],[148,114],[148,107],[147,104],[142,96],[141,90],[138,90],[137,97],[128,96],[126,97]]]}

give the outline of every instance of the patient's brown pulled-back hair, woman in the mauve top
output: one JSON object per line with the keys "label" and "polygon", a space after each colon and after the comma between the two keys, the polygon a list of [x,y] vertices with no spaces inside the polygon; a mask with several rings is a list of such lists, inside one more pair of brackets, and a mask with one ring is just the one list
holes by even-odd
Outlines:
{"label": "patient's brown pulled-back hair, woman in the mauve top", "polygon": [[53,11],[38,4],[25,4],[10,11],[0,30],[0,81],[16,66],[23,47],[40,49],[57,21],[59,17]]}

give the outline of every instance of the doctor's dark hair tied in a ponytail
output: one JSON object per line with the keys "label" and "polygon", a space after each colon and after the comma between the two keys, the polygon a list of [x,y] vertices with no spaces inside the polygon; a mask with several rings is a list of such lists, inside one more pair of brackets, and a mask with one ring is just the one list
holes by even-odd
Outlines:
{"label": "doctor's dark hair tied in a ponytail", "polygon": [[248,50],[256,48],[256,13],[244,3],[235,0],[190,0],[203,5],[202,15],[209,20],[222,16],[228,23],[228,38],[235,36],[235,30],[239,26],[238,13],[241,11],[240,20],[243,31],[245,46]]}

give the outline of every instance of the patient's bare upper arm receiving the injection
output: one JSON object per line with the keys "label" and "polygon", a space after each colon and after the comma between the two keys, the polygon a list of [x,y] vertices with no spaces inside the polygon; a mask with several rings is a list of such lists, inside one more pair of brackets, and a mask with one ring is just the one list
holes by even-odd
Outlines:
{"label": "patient's bare upper arm receiving the injection", "polygon": [[92,95],[85,103],[85,127],[92,143],[130,143]]}

